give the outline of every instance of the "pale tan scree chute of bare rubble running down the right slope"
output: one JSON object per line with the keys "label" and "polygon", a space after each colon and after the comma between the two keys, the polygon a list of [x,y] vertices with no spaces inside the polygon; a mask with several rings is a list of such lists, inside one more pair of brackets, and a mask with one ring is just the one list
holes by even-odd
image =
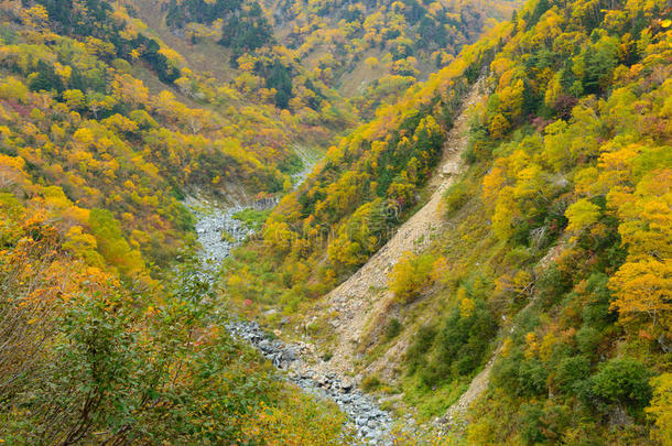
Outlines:
{"label": "pale tan scree chute of bare rubble running down the right slope", "polygon": [[[339,373],[353,373],[357,358],[357,347],[361,341],[367,323],[376,315],[383,314],[392,302],[392,293],[387,290],[388,274],[407,251],[420,252],[432,239],[441,233],[444,226],[442,197],[453,184],[462,168],[462,153],[468,143],[469,111],[479,104],[484,94],[483,83],[474,85],[465,98],[463,109],[448,132],[442,161],[435,175],[430,180],[432,196],[429,202],[408,221],[369,261],[346,282],[326,295],[323,314],[329,314],[328,323],[334,327],[337,344],[328,367]],[[325,309],[326,307],[326,309]],[[386,362],[395,362],[402,353],[398,342],[369,369],[376,370]],[[390,361],[391,360],[391,361]]]}

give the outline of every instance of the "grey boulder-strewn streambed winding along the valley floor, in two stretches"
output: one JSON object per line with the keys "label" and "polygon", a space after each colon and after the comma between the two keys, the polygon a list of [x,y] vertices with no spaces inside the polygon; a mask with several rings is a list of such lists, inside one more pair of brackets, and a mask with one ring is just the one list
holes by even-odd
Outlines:
{"label": "grey boulder-strewn streambed winding along the valley floor, in two stretches", "polygon": [[[196,197],[187,198],[185,205],[197,218],[195,228],[202,246],[200,273],[214,280],[221,261],[253,233],[253,229],[235,218],[237,213],[248,208],[264,210],[275,204],[275,200],[267,199],[248,206],[239,204],[224,207]],[[265,333],[256,322],[232,319],[226,328],[235,338],[256,347],[273,366],[284,371],[288,380],[303,391],[338,404],[353,423],[361,444],[391,445],[390,414],[381,410],[373,398],[358,389],[351,378],[325,373],[313,368],[312,363],[322,361],[313,345],[283,342]]]}

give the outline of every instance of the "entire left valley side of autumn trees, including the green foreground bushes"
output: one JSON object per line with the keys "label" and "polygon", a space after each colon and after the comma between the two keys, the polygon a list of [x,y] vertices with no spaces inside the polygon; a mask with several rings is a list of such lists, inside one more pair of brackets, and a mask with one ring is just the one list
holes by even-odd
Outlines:
{"label": "entire left valley side of autumn trees, including the green foreground bushes", "polygon": [[347,443],[223,329],[181,203],[290,189],[322,121],[188,69],[117,7],[0,3],[0,443]]}

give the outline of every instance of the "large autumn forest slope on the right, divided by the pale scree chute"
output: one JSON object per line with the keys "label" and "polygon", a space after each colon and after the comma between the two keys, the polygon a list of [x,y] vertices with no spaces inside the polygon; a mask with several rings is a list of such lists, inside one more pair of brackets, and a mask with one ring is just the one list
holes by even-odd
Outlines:
{"label": "large autumn forest slope on the right, divided by the pale scree chute", "polygon": [[[670,14],[665,1],[531,1],[333,148],[231,262],[227,294],[295,314],[325,368],[354,350],[367,388],[424,420],[492,359],[468,427],[448,426],[468,444],[669,444]],[[418,237],[391,293],[349,296],[378,311],[343,336],[360,312],[319,297],[423,202],[480,75],[446,229]]]}

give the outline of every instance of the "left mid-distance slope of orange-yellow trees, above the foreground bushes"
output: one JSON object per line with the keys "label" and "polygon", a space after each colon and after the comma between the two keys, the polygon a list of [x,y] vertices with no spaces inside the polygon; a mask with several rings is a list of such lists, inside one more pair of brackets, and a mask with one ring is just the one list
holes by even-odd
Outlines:
{"label": "left mid-distance slope of orange-yellow trees, above the foreground bushes", "polygon": [[182,66],[107,2],[45,7],[3,8],[2,153],[79,207],[112,210],[154,261],[189,227],[185,187],[280,192],[297,168],[292,144],[328,133]]}

